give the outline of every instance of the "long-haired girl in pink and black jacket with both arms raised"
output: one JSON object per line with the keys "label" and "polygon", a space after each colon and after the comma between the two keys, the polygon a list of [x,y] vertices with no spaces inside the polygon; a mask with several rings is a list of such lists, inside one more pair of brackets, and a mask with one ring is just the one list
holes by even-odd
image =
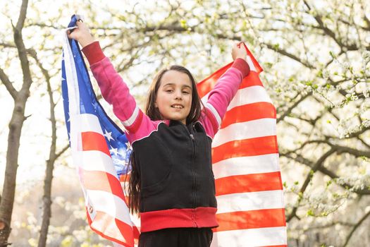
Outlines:
{"label": "long-haired girl in pink and black jacket with both arms raised", "polygon": [[77,25],[68,37],[82,46],[132,145],[129,206],[140,215],[139,246],[210,246],[211,228],[218,227],[211,141],[249,73],[245,48],[233,46],[233,66],[218,79],[204,107],[190,71],[164,68],[154,78],[144,114],[87,25]]}

